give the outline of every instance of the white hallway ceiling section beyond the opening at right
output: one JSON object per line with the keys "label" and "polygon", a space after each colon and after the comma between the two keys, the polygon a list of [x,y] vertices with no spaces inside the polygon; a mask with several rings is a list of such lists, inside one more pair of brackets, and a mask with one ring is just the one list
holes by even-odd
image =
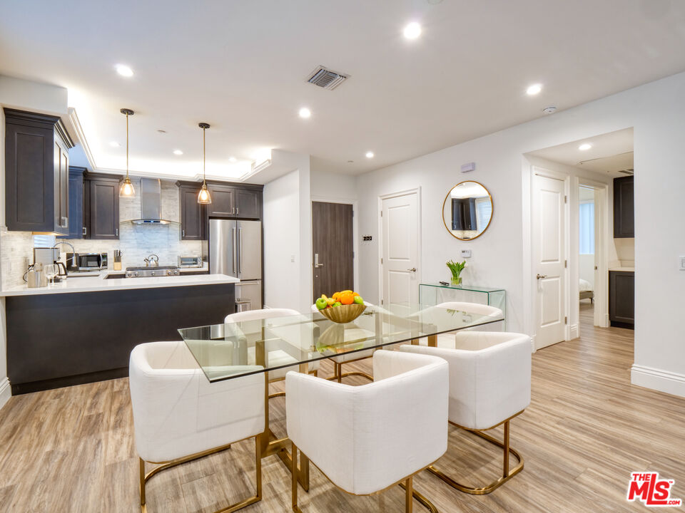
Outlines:
{"label": "white hallway ceiling section beyond the opening at right", "polygon": [[[582,144],[589,144],[592,147],[589,150],[579,150]],[[528,155],[580,167],[601,175],[626,176],[621,171],[633,169],[633,129],[626,128],[592,138],[566,142],[530,152]]]}

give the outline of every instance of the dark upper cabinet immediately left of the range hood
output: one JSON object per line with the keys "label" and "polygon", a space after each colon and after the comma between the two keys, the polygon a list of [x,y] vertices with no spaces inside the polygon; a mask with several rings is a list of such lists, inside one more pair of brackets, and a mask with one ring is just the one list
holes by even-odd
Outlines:
{"label": "dark upper cabinet immediately left of the range hood", "polygon": [[121,177],[86,173],[83,182],[83,238],[119,238]]}

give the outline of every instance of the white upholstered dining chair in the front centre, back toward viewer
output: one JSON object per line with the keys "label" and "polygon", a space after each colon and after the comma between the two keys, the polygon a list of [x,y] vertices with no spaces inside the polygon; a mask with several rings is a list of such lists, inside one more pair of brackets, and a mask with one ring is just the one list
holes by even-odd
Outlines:
{"label": "white upholstered dining chair in the front centre, back toward viewer", "polygon": [[367,385],[288,373],[293,510],[300,512],[299,450],[350,494],[375,494],[402,483],[405,511],[411,512],[412,477],[447,450],[447,372],[447,362],[435,356],[379,350],[373,354],[374,382]]}

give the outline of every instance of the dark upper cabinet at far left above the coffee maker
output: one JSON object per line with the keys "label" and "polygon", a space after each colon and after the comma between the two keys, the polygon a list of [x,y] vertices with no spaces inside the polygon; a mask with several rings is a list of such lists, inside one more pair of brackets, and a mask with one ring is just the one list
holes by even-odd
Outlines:
{"label": "dark upper cabinet at far left above the coffee maker", "polygon": [[4,109],[7,229],[69,232],[69,157],[60,118]]}

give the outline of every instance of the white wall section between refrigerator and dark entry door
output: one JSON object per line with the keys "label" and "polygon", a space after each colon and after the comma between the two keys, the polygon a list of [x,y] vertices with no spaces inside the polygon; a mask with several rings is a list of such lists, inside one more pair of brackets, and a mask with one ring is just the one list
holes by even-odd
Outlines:
{"label": "white wall section between refrigerator and dark entry door", "polygon": [[264,185],[264,304],[293,308],[300,290],[300,172]]}

